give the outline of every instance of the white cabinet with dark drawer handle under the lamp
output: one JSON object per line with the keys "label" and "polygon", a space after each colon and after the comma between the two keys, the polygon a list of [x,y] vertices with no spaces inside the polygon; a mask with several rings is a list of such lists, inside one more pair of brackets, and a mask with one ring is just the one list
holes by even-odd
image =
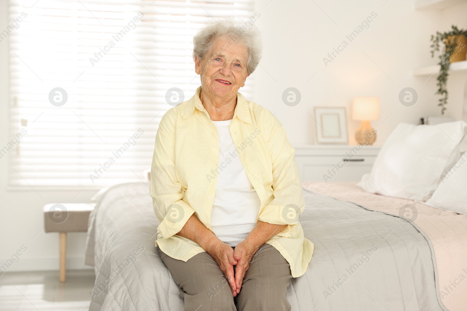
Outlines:
{"label": "white cabinet with dark drawer handle under the lamp", "polygon": [[[302,181],[360,181],[371,172],[381,146],[300,145],[295,148]],[[365,172],[366,171],[366,172]]]}

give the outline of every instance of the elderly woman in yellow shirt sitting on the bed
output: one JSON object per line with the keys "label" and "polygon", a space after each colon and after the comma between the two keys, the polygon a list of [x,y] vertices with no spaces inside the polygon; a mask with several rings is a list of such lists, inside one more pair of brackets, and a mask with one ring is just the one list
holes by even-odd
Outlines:
{"label": "elderly woman in yellow shirt sitting on the bed", "polygon": [[216,21],[193,38],[201,86],[159,124],[150,194],[158,252],[187,311],[287,311],[313,244],[294,148],[273,113],[238,90],[261,58],[259,31]]}

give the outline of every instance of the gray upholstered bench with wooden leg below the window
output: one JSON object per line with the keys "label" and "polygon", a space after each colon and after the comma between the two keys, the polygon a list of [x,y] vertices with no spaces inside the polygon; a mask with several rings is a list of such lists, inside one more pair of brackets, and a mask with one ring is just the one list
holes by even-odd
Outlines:
{"label": "gray upholstered bench with wooden leg below the window", "polygon": [[59,233],[60,267],[59,280],[66,280],[66,233],[86,232],[89,214],[94,209],[94,203],[62,203],[44,205],[45,232]]}

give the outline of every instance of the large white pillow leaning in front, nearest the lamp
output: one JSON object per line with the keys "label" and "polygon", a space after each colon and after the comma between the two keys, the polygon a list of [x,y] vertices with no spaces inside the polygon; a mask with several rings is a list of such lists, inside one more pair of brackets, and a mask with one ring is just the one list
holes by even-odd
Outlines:
{"label": "large white pillow leaning in front, nearest the lamp", "polygon": [[375,159],[371,173],[357,185],[363,190],[412,200],[427,200],[440,175],[465,151],[467,123],[400,123]]}

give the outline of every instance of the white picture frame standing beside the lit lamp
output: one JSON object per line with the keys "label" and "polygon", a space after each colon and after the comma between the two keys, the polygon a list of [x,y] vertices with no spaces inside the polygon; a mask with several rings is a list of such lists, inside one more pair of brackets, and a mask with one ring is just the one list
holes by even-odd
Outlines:
{"label": "white picture frame standing beside the lit lamp", "polygon": [[348,144],[346,107],[314,107],[318,144]]}

